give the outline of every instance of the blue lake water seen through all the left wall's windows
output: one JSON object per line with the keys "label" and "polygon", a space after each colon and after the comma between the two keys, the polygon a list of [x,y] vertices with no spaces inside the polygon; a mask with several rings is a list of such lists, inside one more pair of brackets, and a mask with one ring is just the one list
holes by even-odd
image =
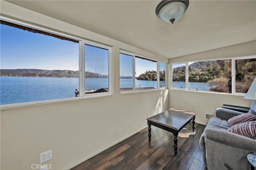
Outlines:
{"label": "blue lake water seen through all the left wall's windows", "polygon": [[[136,87],[155,87],[156,81],[136,80]],[[0,104],[75,97],[78,78],[0,77]],[[120,79],[120,88],[131,88],[132,79]],[[108,78],[86,78],[87,90],[108,88]]]}

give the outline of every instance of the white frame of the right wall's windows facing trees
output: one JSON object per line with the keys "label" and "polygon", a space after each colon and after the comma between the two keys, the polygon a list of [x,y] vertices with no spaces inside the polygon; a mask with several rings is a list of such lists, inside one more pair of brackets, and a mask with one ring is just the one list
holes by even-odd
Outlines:
{"label": "white frame of the right wall's windows facing trees", "polygon": [[[211,92],[211,91],[200,91],[200,90],[188,90],[188,63],[191,62],[199,62],[199,61],[216,61],[216,60],[228,60],[231,59],[231,82],[232,82],[232,93],[222,93],[222,92]],[[178,63],[171,63],[170,64],[170,89],[171,90],[185,90],[190,92],[201,92],[201,93],[213,93],[213,94],[226,94],[226,95],[234,95],[234,96],[245,96],[245,93],[237,93],[236,92],[236,68],[235,68],[235,62],[236,60],[242,60],[242,59],[256,59],[256,55],[249,55],[249,56],[240,56],[240,57],[227,57],[227,58],[217,58],[217,59],[206,59],[206,60],[195,60],[195,61],[186,61],[186,62],[178,62]],[[186,88],[173,88],[172,87],[172,78],[173,78],[173,64],[186,64]]]}

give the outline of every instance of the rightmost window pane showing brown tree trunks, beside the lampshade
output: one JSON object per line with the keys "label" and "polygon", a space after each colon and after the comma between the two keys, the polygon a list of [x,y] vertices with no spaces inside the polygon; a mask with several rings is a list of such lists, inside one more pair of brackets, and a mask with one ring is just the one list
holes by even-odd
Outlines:
{"label": "rightmost window pane showing brown tree trunks, beside the lampshade", "polygon": [[246,93],[256,76],[256,59],[236,60],[236,93]]}

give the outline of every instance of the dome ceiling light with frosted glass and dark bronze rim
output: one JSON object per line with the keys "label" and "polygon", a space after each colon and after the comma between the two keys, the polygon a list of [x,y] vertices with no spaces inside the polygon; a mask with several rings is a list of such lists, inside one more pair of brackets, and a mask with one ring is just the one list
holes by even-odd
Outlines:
{"label": "dome ceiling light with frosted glass and dark bronze rim", "polygon": [[162,0],[156,6],[156,15],[162,20],[174,23],[188,9],[189,0]]}

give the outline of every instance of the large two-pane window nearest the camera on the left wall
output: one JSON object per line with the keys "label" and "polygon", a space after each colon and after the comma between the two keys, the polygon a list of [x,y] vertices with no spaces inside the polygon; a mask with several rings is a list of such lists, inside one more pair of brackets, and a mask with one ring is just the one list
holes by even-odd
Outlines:
{"label": "large two-pane window nearest the camera on the left wall", "polygon": [[110,95],[110,47],[8,19],[0,29],[1,105]]}

